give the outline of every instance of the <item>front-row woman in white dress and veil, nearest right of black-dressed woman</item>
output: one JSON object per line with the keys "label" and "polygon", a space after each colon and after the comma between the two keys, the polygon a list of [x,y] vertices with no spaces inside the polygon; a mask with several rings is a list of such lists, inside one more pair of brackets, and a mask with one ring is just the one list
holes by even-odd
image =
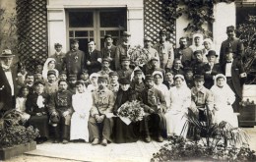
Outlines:
{"label": "front-row woman in white dress and veil, nearest right of black-dressed woman", "polygon": [[186,137],[188,131],[188,108],[191,105],[191,91],[182,75],[174,78],[175,86],[170,88],[170,107],[165,113],[167,135]]}

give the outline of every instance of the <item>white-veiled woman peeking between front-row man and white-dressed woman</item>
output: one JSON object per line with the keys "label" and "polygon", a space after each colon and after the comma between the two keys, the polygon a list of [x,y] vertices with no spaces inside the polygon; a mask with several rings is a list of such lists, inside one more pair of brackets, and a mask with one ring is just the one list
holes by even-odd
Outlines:
{"label": "white-veiled woman peeking between front-row man and white-dressed woman", "polygon": [[165,98],[165,102],[166,102],[166,106],[168,107],[169,106],[169,90],[168,90],[168,87],[162,83],[163,82],[163,76],[162,76],[162,73],[160,71],[155,71],[152,76],[154,77],[154,86],[159,89],[164,98]]}

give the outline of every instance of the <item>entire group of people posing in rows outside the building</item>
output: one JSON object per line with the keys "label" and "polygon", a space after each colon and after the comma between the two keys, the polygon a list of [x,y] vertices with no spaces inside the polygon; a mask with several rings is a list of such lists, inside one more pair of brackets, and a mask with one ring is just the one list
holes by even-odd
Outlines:
{"label": "entire group of people posing in rows outside the building", "polygon": [[[89,51],[83,52],[73,39],[67,53],[56,43],[55,53],[44,65],[36,65],[32,73],[19,64],[17,75],[14,55],[3,50],[0,113],[13,108],[20,112],[22,124],[39,130],[37,143],[47,140],[49,128],[54,143],[83,139],[106,146],[139,138],[161,142],[167,135],[189,137],[188,110],[199,121],[207,120],[208,111],[214,123],[238,127],[238,103],[246,79],[243,44],[234,36],[234,27],[226,27],[226,33],[220,54],[210,38],[203,40],[198,33],[191,46],[181,37],[179,48],[174,49],[164,29],[157,44],[145,37],[143,49],[137,50],[130,45],[128,31],[117,46],[106,34],[101,51],[92,40]],[[118,111],[135,100],[145,115],[127,125]]]}

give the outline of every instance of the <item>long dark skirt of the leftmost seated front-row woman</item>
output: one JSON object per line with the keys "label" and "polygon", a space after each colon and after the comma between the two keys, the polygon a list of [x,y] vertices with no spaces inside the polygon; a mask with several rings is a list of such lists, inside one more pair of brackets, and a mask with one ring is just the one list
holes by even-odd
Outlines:
{"label": "long dark skirt of the leftmost seated front-row woman", "polygon": [[47,115],[42,116],[31,116],[29,119],[29,124],[32,125],[34,129],[39,130],[40,137],[48,137],[49,136],[49,119]]}

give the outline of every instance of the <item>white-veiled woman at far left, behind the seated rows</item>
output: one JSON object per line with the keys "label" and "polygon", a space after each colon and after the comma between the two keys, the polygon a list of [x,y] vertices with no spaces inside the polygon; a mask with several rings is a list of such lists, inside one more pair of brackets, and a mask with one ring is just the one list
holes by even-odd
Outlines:
{"label": "white-veiled woman at far left, behind the seated rows", "polygon": [[59,71],[55,69],[56,66],[56,61],[53,58],[48,58],[44,65],[43,65],[43,69],[42,69],[42,79],[43,81],[47,81],[47,74],[49,70],[53,70],[55,71],[56,74],[56,78],[59,78]]}

